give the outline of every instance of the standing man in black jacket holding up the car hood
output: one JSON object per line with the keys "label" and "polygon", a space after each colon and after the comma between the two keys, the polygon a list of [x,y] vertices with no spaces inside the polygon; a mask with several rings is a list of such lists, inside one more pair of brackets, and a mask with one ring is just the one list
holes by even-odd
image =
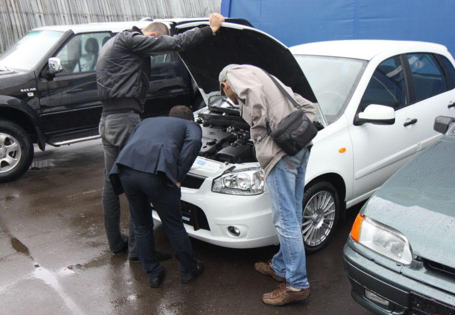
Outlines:
{"label": "standing man in black jacket holding up the car hood", "polygon": [[210,26],[194,28],[169,36],[166,25],[152,22],[143,29],[133,27],[109,39],[101,48],[96,63],[96,83],[103,110],[99,134],[104,148],[104,184],[102,209],[109,249],[114,254],[128,250],[128,261],[138,262],[134,247],[133,226],[128,237],[120,232],[120,202],[109,183],[108,174],[118,152],[140,122],[139,114],[148,90],[150,55],[181,51],[212,36],[224,18],[210,15]]}

